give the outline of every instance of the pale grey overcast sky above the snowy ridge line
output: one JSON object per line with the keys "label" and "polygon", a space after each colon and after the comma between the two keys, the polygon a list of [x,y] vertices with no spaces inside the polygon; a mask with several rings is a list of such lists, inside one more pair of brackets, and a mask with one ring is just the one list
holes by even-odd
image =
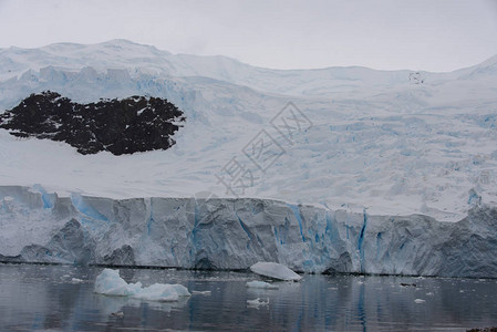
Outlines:
{"label": "pale grey overcast sky above the snowy ridge line", "polygon": [[0,48],[117,38],[266,68],[451,71],[497,54],[497,0],[0,0]]}

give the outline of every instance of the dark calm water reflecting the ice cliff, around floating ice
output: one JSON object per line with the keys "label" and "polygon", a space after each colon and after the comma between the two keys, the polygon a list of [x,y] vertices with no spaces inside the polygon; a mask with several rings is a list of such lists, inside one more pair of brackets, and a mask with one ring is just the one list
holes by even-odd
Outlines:
{"label": "dark calm water reflecting the ice cliff, around floating ice", "polygon": [[[446,330],[497,324],[497,280],[304,276],[248,289],[250,273],[121,269],[127,282],[182,283],[194,294],[161,303],[93,293],[100,268],[0,264],[0,328],[113,331]],[[401,283],[414,286],[401,286]],[[248,307],[261,299],[268,305]],[[416,299],[424,300],[417,301]],[[123,315],[115,315],[123,312]]]}

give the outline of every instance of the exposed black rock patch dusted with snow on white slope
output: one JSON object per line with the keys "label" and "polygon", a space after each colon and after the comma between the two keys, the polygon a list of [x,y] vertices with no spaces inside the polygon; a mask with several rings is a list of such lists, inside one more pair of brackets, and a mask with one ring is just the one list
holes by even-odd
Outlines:
{"label": "exposed black rock patch dusted with snow on white slope", "polygon": [[184,113],[165,98],[132,96],[77,104],[56,92],[31,94],[0,114],[0,128],[18,137],[65,142],[81,154],[167,149]]}

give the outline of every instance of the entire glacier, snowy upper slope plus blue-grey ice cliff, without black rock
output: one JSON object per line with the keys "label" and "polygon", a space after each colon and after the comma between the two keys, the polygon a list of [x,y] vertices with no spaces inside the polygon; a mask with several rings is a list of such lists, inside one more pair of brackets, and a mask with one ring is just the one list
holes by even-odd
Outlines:
{"label": "entire glacier, snowy upper slope plus blue-grey ice cliff, without black rock", "polygon": [[[495,278],[495,86],[497,56],[281,71],[124,40],[1,49],[0,113],[51,90],[164,97],[188,121],[170,149],[118,157],[0,129],[0,261]],[[291,142],[272,126],[289,102],[311,123]],[[282,152],[265,172],[258,133]],[[255,174],[239,195],[216,178],[235,158]]]}

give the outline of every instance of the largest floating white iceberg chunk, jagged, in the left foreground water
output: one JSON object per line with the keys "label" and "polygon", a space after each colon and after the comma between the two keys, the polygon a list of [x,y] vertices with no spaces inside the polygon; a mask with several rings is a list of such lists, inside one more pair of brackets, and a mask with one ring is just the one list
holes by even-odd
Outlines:
{"label": "largest floating white iceberg chunk, jagged, in the left foreground water", "polygon": [[120,277],[120,270],[104,269],[96,277],[95,293],[114,297],[132,297],[141,300],[172,302],[179,297],[190,297],[188,289],[182,284],[154,283],[142,287],[142,282],[127,283]]}

